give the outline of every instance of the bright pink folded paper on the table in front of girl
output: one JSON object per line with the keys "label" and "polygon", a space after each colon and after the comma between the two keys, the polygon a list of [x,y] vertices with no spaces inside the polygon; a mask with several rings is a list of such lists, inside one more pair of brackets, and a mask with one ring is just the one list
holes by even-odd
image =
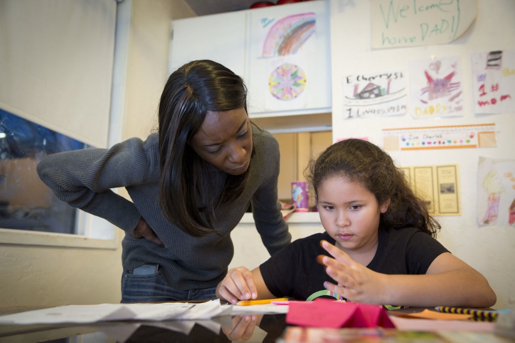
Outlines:
{"label": "bright pink folded paper on the table in front of girl", "polygon": [[290,302],[286,322],[315,328],[395,328],[383,306],[324,298]]}

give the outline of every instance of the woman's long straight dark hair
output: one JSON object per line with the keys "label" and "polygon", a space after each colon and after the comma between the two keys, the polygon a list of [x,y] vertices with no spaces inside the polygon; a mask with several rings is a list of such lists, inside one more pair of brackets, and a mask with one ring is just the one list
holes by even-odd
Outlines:
{"label": "woman's long straight dark hair", "polygon": [[[247,111],[243,79],[225,66],[198,60],[174,71],[159,104],[159,204],[166,218],[192,236],[215,232],[215,207],[236,198],[248,172],[210,172],[210,165],[188,145],[207,111]],[[217,190],[222,189],[216,198]],[[214,198],[213,198],[214,197]]]}

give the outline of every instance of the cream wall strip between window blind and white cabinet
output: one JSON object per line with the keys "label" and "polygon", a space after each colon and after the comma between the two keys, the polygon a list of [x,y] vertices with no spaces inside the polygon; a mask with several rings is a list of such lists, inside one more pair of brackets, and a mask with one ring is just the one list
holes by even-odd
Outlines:
{"label": "cream wall strip between window blind and white cabinet", "polygon": [[168,78],[171,20],[195,16],[183,0],[132,0],[123,138],[157,130],[159,99]]}

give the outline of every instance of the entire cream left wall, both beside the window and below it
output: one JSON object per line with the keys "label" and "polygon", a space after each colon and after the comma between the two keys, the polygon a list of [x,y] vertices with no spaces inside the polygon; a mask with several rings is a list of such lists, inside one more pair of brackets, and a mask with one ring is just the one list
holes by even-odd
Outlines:
{"label": "entire cream left wall, both beside the window and below it", "polygon": [[[152,128],[168,74],[170,20],[193,15],[182,0],[132,0],[124,138],[146,137]],[[116,237],[120,242],[123,232]],[[119,302],[121,253],[119,244],[97,249],[0,243],[0,308]]]}

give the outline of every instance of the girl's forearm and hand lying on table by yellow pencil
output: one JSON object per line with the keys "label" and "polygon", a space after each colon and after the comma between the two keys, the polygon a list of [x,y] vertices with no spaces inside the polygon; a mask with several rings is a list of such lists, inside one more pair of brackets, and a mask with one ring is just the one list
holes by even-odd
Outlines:
{"label": "girl's forearm and hand lying on table by yellow pencil", "polygon": [[259,267],[250,271],[246,267],[232,268],[216,286],[216,297],[233,304],[238,300],[270,299],[270,293]]}

